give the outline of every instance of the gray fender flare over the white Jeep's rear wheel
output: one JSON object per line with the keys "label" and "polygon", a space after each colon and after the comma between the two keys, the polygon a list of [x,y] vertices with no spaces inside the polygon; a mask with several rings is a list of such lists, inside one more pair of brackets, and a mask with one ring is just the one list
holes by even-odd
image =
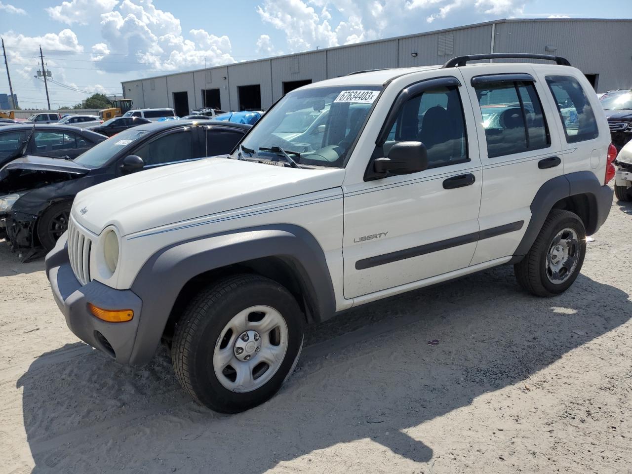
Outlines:
{"label": "gray fender flare over the white Jeep's rear wheel", "polygon": [[588,197],[589,219],[586,223],[586,234],[592,235],[597,232],[608,217],[612,205],[610,186],[602,185],[591,171],[577,171],[576,173],[556,176],[540,186],[535,194],[530,205],[531,220],[525,235],[514,252],[511,263],[520,261],[521,257],[529,252],[554,205],[561,199],[580,194]]}

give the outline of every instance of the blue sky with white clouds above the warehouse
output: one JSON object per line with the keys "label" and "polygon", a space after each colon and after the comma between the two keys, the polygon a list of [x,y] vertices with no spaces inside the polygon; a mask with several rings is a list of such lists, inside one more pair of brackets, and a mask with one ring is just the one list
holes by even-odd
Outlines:
{"label": "blue sky with white clouds above the warehouse", "polygon": [[[0,35],[22,108],[51,106],[121,80],[499,18],[632,18],[632,0],[0,0]],[[4,68],[0,93],[9,92]]]}

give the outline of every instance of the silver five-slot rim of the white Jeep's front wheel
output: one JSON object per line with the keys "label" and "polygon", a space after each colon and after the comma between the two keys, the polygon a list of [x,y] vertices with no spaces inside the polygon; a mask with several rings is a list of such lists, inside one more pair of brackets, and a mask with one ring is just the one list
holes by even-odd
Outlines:
{"label": "silver five-slot rim of the white Jeep's front wheel", "polygon": [[288,349],[288,324],[274,308],[258,305],[240,311],[217,338],[213,368],[233,392],[264,386],[281,367]]}

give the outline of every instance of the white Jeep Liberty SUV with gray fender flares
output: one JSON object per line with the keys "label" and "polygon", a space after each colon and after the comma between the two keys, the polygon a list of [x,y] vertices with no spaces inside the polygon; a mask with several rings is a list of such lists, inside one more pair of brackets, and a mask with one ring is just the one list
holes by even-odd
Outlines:
{"label": "white Jeep Liberty SUV with gray fender flares", "polygon": [[[557,64],[466,64],[503,58]],[[46,272],[76,336],[134,364],[165,341],[185,391],[234,413],[279,390],[307,323],[495,265],[568,289],[614,152],[564,58],[352,73],[285,95],[231,155],[81,191]]]}

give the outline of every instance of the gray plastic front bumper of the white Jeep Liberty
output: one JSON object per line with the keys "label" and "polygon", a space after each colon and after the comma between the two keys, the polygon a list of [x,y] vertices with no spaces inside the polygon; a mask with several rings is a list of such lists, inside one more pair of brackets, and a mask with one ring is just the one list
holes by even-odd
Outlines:
{"label": "gray plastic front bumper of the white Jeep Liberty", "polygon": [[[116,362],[134,363],[132,349],[142,310],[140,298],[129,289],[110,288],[98,281],[82,286],[70,267],[66,233],[46,256],[45,265],[52,295],[70,331]],[[131,309],[134,317],[128,322],[106,322],[92,315],[88,303],[106,309]]]}

